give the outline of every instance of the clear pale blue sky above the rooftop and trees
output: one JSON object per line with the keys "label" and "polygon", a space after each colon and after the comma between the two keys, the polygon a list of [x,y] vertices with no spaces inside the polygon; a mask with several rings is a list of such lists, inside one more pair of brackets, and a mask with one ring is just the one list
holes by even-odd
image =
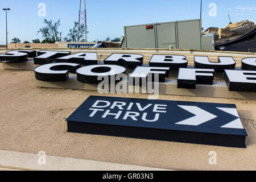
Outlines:
{"label": "clear pale blue sky above the rooftop and trees", "polygon": [[[46,4],[46,17],[38,16],[38,4]],[[217,16],[209,16],[209,4],[216,3]],[[61,20],[63,38],[78,20],[79,0],[0,0],[0,45],[5,44],[5,11],[8,13],[9,43],[14,37],[22,42],[39,38],[43,20]],[[200,18],[200,0],[87,0],[88,41],[123,35],[123,26]],[[232,22],[256,22],[255,0],[203,0],[203,27],[225,27]]]}

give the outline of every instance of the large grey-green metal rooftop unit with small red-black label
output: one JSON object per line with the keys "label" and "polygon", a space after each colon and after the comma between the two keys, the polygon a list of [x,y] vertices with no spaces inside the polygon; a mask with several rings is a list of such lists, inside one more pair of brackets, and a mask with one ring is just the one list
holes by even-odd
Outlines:
{"label": "large grey-green metal rooftop unit with small red-black label", "polygon": [[122,48],[203,49],[201,19],[124,27]]}

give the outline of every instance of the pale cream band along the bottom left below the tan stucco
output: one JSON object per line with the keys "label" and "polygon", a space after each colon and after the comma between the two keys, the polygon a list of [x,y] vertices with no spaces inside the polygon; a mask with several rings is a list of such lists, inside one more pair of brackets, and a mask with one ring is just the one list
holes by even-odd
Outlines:
{"label": "pale cream band along the bottom left below the tan stucco", "polygon": [[0,150],[0,170],[40,171],[167,171],[167,169],[98,162],[93,160],[44,156],[23,152]]}

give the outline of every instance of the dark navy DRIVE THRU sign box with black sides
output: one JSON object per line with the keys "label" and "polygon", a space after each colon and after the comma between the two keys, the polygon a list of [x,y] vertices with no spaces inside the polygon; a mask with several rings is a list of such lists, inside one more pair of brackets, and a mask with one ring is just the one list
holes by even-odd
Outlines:
{"label": "dark navy DRIVE THRU sign box with black sides", "polygon": [[[155,122],[153,124],[151,122],[141,121],[131,123],[131,121],[128,120],[123,122],[121,121],[122,119],[114,119],[114,116],[113,118],[110,117],[104,119],[99,117],[90,118],[88,117],[88,115],[91,114],[89,108],[97,100],[141,103],[143,107],[150,103],[162,103],[167,104],[166,108],[168,110],[174,109],[174,107],[176,107],[175,105],[198,106],[206,111],[210,110],[209,112],[217,115],[218,118],[201,123],[199,126],[177,125],[174,127],[170,123],[164,123],[164,119],[166,118],[174,118],[174,120],[176,119],[176,122],[179,122],[179,119],[177,119],[179,117],[183,118],[181,120],[184,120],[185,118],[193,117],[193,115],[195,115],[182,108],[174,109],[172,116],[167,115],[168,112],[167,114],[163,113],[163,117],[159,118],[160,122]],[[68,132],[246,148],[245,139],[247,133],[245,129],[220,127],[237,119],[237,117],[234,117],[234,115],[230,113],[225,113],[220,109],[213,109],[217,107],[236,109],[236,105],[232,104],[90,96],[73,114],[71,114],[71,116],[68,117]],[[176,111],[177,109],[179,109],[178,112]],[[111,112],[117,113],[117,110],[112,110]],[[150,114],[150,112],[148,112],[148,114]]]}

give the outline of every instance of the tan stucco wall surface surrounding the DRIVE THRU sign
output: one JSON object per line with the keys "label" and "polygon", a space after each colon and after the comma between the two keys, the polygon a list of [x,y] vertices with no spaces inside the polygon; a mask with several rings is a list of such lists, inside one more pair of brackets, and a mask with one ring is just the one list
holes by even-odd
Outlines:
{"label": "tan stucco wall surface surrounding the DRIVE THRU sign", "polygon": [[[0,150],[136,166],[192,170],[255,170],[256,101],[224,98],[163,96],[160,100],[236,104],[249,137],[247,148],[163,142],[133,138],[67,133],[67,118],[98,92],[37,88],[33,71],[4,70],[0,64]],[[113,94],[106,94],[113,96]],[[147,98],[146,94],[115,97]],[[217,165],[209,165],[209,151]]]}

